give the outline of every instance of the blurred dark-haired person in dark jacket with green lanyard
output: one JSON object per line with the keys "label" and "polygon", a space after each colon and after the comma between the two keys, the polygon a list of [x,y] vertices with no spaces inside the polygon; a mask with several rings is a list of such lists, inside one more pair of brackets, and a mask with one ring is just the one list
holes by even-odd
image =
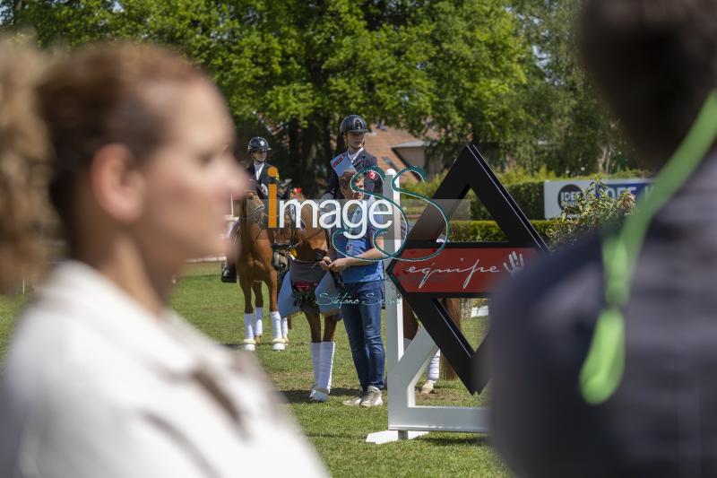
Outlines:
{"label": "blurred dark-haired person in dark jacket with green lanyard", "polygon": [[[519,476],[717,476],[717,122],[693,128],[715,113],[717,2],[587,0],[580,26],[584,64],[646,167],[690,131],[706,146],[635,254],[606,253],[621,230],[603,232],[497,294],[495,443]],[[613,290],[606,277],[631,257]]]}

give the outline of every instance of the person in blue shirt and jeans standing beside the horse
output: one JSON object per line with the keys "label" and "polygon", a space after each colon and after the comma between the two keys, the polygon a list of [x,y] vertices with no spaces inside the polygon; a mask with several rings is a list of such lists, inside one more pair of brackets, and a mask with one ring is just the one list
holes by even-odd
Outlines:
{"label": "person in blue shirt and jeans standing beside the horse", "polygon": [[[374,197],[366,198],[361,192],[353,191],[351,179],[358,189],[363,189],[365,180],[353,169],[345,171],[339,178],[342,196],[348,199],[366,201],[364,211],[368,211],[375,201]],[[361,207],[349,211],[351,223],[361,220]],[[379,219],[380,216],[374,216]],[[371,407],[382,405],[384,388],[385,353],[381,339],[381,305],[384,300],[384,265],[385,257],[378,248],[384,248],[384,239],[373,236],[378,224],[367,221],[366,233],[358,239],[348,239],[342,233],[336,234],[335,249],[332,257],[324,257],[321,263],[324,270],[341,274],[343,292],[341,296],[341,315],[349,335],[351,355],[361,385],[361,394],[350,398],[343,404],[350,406]],[[354,230],[350,230],[354,232]],[[378,248],[376,248],[378,247]],[[361,260],[364,259],[364,260]]]}

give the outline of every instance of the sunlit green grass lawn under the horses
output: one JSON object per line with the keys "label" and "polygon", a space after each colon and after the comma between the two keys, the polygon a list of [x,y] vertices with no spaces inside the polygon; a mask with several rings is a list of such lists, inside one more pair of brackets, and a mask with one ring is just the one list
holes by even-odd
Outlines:
{"label": "sunlit green grass lawn under the horses", "polygon": [[[172,306],[216,341],[237,344],[244,336],[244,300],[238,286],[222,284],[218,273],[219,266],[215,264],[193,265],[177,281]],[[14,317],[25,300],[22,296],[0,296],[3,355]],[[485,321],[467,322],[465,333],[471,342],[477,342],[484,333]],[[264,333],[271,335],[268,310],[264,311]],[[343,326],[340,324],[336,329],[333,388],[325,404],[310,403],[307,399],[313,373],[308,326],[303,316],[293,320],[289,340],[284,352],[272,352],[269,343],[259,345],[258,357],[333,476],[510,476],[483,435],[429,433],[419,439],[386,445],[365,443],[368,433],[386,429],[386,407],[357,409],[341,404],[358,387]],[[442,380],[435,394],[428,398],[419,395],[417,402],[475,405],[483,400],[471,397],[458,380]]]}

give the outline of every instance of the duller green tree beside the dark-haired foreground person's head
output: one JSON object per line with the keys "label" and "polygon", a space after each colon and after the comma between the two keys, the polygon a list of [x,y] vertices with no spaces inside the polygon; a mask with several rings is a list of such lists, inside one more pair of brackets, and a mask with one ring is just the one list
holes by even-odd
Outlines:
{"label": "duller green tree beside the dark-haired foreground person's head", "polygon": [[580,65],[574,30],[580,0],[513,3],[532,48],[528,81],[514,97],[519,123],[507,149],[515,160],[529,169],[547,164],[566,176],[635,167]]}

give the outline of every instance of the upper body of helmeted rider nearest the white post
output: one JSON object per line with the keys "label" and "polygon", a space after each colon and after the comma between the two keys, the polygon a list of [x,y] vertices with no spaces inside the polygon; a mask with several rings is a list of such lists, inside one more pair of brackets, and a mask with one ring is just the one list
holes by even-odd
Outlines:
{"label": "upper body of helmeted rider nearest the white post", "polygon": [[[332,172],[329,179],[329,187],[324,192],[322,199],[343,199],[339,187],[339,176],[346,169],[361,169],[368,166],[376,166],[376,156],[364,149],[364,136],[368,127],[364,118],[358,115],[344,117],[340,126],[341,136],[347,145],[347,151],[341,152],[331,161]],[[375,171],[368,171],[364,179],[364,188],[368,192],[381,192],[383,183],[381,177]]]}

